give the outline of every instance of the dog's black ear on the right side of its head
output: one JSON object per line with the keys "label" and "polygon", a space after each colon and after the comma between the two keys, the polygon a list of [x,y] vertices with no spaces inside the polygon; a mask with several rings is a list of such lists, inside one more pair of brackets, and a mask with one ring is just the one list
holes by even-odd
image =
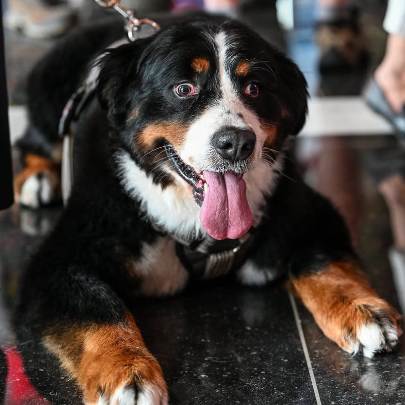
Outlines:
{"label": "dog's black ear on the right side of its head", "polygon": [[307,82],[298,66],[281,52],[277,58],[277,93],[282,104],[282,123],[289,135],[297,135],[308,112]]}

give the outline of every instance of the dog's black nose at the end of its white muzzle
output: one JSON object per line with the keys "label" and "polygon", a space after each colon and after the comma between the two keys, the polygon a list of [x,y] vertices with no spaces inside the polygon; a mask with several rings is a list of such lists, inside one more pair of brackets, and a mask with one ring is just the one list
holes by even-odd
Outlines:
{"label": "dog's black nose at the end of its white muzzle", "polygon": [[213,135],[212,144],[220,156],[235,162],[252,154],[256,137],[253,132],[241,128],[224,128]]}

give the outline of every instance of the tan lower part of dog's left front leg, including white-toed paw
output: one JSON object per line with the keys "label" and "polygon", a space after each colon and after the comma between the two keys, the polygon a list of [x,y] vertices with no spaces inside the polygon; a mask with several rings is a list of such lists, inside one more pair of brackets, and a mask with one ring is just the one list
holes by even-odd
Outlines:
{"label": "tan lower part of dog's left front leg, including white-toed paw", "polygon": [[130,314],[109,325],[54,327],[43,341],[82,388],[87,405],[167,404],[159,363]]}

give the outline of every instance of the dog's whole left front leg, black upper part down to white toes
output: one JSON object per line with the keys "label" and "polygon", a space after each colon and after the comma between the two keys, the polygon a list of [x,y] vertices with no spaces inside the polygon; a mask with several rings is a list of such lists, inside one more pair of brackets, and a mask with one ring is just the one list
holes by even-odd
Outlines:
{"label": "dog's whole left front leg, black upper part down to white toes", "polygon": [[36,262],[15,313],[19,341],[42,341],[87,405],[167,405],[159,363],[123,301],[94,271],[43,270]]}

